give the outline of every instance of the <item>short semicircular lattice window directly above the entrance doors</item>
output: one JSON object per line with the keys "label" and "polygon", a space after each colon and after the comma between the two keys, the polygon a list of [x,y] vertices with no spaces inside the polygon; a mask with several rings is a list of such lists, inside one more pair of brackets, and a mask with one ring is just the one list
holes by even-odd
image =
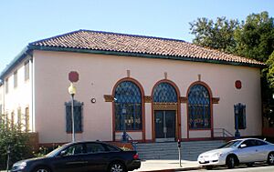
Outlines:
{"label": "short semicircular lattice window directly above the entrance doors", "polygon": [[175,103],[177,94],[174,86],[169,83],[161,83],[153,89],[153,102]]}

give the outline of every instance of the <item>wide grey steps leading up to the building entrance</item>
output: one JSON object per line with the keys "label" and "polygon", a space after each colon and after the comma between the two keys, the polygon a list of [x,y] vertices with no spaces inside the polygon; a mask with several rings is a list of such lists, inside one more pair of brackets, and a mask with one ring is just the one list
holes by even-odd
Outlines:
{"label": "wide grey steps leading up to the building entrance", "polygon": [[[197,160],[202,152],[220,147],[223,140],[189,141],[181,143],[182,160]],[[136,145],[139,157],[146,159],[179,159],[177,142],[139,143]]]}

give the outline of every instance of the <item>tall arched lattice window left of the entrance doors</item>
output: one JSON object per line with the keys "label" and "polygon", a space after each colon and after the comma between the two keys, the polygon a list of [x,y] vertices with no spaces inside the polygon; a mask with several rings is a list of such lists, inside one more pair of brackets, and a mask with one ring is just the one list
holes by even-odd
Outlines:
{"label": "tall arched lattice window left of the entrance doors", "polygon": [[142,130],[142,94],[132,81],[115,89],[115,130]]}

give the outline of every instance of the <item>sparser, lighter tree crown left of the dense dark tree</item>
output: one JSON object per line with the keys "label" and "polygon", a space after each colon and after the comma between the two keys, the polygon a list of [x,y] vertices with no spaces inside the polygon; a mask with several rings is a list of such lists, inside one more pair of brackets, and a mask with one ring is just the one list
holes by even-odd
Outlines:
{"label": "sparser, lighter tree crown left of the dense dark tree", "polygon": [[198,18],[190,23],[191,34],[195,35],[193,43],[198,46],[219,49],[226,53],[234,53],[236,40],[234,32],[239,26],[237,20],[227,20],[226,17],[217,17],[216,22],[207,18]]}

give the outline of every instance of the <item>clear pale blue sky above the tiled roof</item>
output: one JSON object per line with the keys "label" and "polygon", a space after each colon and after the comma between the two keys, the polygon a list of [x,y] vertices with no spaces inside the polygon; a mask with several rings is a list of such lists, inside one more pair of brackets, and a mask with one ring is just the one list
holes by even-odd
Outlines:
{"label": "clear pale blue sky above the tiled roof", "polygon": [[1,0],[0,72],[28,43],[79,29],[151,35],[192,42],[198,17],[245,20],[272,0]]}

